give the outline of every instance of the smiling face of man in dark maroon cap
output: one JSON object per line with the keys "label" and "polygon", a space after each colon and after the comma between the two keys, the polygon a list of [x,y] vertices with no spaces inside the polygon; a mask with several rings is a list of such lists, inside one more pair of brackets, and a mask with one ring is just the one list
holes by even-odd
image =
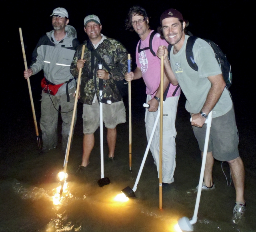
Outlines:
{"label": "smiling face of man in dark maroon cap", "polygon": [[185,38],[185,25],[185,22],[181,24],[178,18],[165,18],[162,20],[162,32],[165,40],[169,44],[181,48]]}

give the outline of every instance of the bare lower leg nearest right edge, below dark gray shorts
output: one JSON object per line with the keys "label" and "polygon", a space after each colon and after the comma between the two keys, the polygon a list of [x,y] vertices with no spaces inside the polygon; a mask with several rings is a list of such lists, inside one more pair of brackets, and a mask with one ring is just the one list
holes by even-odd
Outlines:
{"label": "bare lower leg nearest right edge, below dark gray shorts", "polygon": [[240,157],[228,161],[233,183],[236,189],[236,201],[245,203],[244,201],[244,164]]}

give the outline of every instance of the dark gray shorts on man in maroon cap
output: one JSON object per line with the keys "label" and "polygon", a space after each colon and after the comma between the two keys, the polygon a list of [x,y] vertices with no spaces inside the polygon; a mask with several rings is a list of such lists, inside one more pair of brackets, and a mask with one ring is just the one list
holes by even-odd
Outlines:
{"label": "dark gray shorts on man in maroon cap", "polygon": [[[206,124],[204,124],[202,128],[192,126],[192,129],[197,139],[200,151],[203,152]],[[232,109],[226,114],[217,118],[212,118],[208,152],[212,152],[212,156],[216,160],[234,160],[239,157],[238,142],[239,138],[236,119],[234,109],[232,107]]]}

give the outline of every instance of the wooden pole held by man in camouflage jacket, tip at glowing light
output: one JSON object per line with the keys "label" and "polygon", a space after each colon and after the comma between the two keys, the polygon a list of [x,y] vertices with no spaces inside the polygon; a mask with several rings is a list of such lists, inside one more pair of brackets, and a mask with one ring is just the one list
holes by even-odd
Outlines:
{"label": "wooden pole held by man in camouflage jacket, tip at glowing light", "polygon": [[[84,58],[84,49],[85,49],[85,45],[83,45],[83,47],[82,47],[81,59]],[[74,110],[73,110],[73,115],[72,115],[72,121],[71,121],[71,125],[70,125],[70,131],[69,131],[69,136],[68,136],[68,146],[67,146],[67,150],[66,150],[66,159],[65,159],[65,165],[64,165],[64,170],[63,170],[64,178],[61,182],[60,194],[63,192],[63,185],[64,185],[67,166],[68,166],[68,156],[69,156],[70,144],[71,144],[71,140],[72,140],[71,138],[72,138],[72,134],[73,134],[74,121],[75,121],[75,116],[76,116],[76,107],[77,107],[77,99],[78,99],[78,93],[79,93],[80,82],[81,82],[81,74],[82,74],[82,68],[79,69],[79,74],[78,74],[75,104],[74,104]]]}

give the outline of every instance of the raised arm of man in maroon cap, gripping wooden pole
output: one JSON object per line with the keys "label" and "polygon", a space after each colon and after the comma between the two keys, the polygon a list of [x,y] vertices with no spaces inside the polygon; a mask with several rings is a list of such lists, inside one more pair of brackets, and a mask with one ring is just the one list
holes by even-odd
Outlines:
{"label": "raised arm of man in maroon cap, gripping wooden pole", "polygon": [[164,72],[169,79],[169,81],[172,83],[172,85],[176,86],[178,84],[178,81],[172,72],[171,64],[168,59],[168,50],[166,46],[159,46],[156,55],[158,58],[161,59],[161,56],[164,56]]}

